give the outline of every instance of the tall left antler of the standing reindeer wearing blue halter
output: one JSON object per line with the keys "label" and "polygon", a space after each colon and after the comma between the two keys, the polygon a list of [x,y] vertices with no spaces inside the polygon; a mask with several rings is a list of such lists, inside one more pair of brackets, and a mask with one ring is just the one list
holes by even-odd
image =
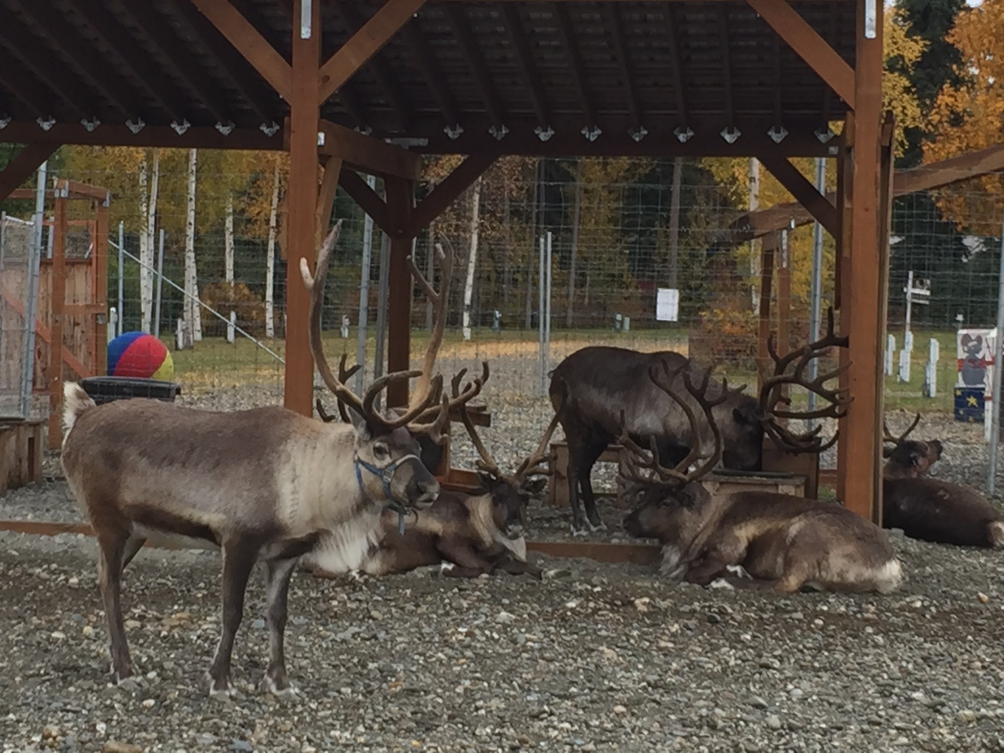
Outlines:
{"label": "tall left antler of the standing reindeer wearing blue halter", "polygon": [[[437,398],[438,393],[436,390],[439,390],[440,393],[442,392],[443,378],[437,376],[433,380],[436,388],[421,403],[414,408],[410,408],[403,415],[395,419],[388,419],[373,409],[373,401],[376,399],[376,396],[389,385],[395,382],[410,380],[414,376],[421,376],[422,371],[397,371],[386,374],[366,388],[361,399],[331,372],[327,357],[324,355],[324,343],[321,341],[321,306],[324,300],[324,282],[327,278],[327,270],[331,262],[331,251],[334,249],[334,243],[341,232],[341,220],[338,220],[335,223],[331,232],[327,234],[327,237],[321,243],[320,249],[317,251],[317,269],[314,274],[310,274],[310,266],[307,260],[300,259],[300,276],[303,278],[304,287],[310,293],[310,327],[308,330],[310,351],[313,354],[314,363],[317,366],[321,380],[327,386],[328,390],[334,394],[339,405],[344,404],[346,408],[362,418],[372,429],[382,433],[388,433],[408,426],[418,416],[428,411]],[[445,412],[447,410],[446,406],[444,405],[441,410]],[[344,415],[347,418],[347,414]],[[445,422],[445,418],[438,419],[436,423],[440,424],[443,422]]]}

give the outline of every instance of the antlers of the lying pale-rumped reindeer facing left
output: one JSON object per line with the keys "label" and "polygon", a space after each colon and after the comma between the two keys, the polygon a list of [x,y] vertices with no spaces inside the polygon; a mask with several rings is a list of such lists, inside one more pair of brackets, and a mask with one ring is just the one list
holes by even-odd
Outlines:
{"label": "antlers of the lying pale-rumped reindeer facing left", "polygon": [[[656,387],[666,393],[678,406],[680,406],[684,414],[687,416],[687,421],[690,423],[691,428],[691,450],[687,454],[687,457],[677,463],[676,466],[673,468],[667,468],[662,464],[659,457],[659,448],[656,445],[656,439],[654,437],[650,439],[649,449],[646,450],[638,445],[629,436],[624,414],[623,411],[621,411],[621,434],[618,441],[626,451],[624,461],[628,473],[625,474],[625,478],[630,481],[644,484],[646,486],[684,486],[685,484],[697,481],[701,477],[707,475],[718,464],[718,461],[721,460],[724,442],[722,440],[722,432],[712,415],[712,409],[715,408],[715,406],[725,403],[733,396],[742,393],[745,389],[745,385],[734,390],[729,390],[728,381],[723,379],[721,395],[717,398],[711,399],[708,398],[708,387],[711,384],[710,367],[704,372],[704,376],[701,379],[701,384],[695,386],[693,380],[691,379],[688,364],[683,364],[671,370],[669,362],[664,358],[661,361],[661,365],[662,372],[660,372],[656,366],[650,367],[649,379],[652,380]],[[681,370],[683,371],[683,383],[687,388],[687,392],[689,392],[694,400],[697,401],[697,404],[704,412],[708,426],[711,428],[714,439],[714,450],[707,456],[702,455],[701,452],[701,427],[698,423],[697,415],[694,413],[693,408],[691,408],[687,401],[677,395],[677,393],[673,390],[673,381],[677,374],[681,372]],[[692,464],[701,460],[704,462],[700,463],[693,471],[688,471]]]}

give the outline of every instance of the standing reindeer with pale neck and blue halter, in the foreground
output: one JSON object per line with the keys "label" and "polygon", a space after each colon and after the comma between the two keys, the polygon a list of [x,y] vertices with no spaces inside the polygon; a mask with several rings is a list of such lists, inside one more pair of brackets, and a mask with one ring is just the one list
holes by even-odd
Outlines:
{"label": "standing reindeer with pale neck and blue halter, in the foreground", "polygon": [[[122,569],[148,536],[181,535],[223,551],[222,633],[208,673],[213,697],[230,694],[245,589],[256,561],[264,561],[270,646],[264,685],[290,696],[283,644],[289,579],[299,558],[332,538],[357,547],[371,538],[384,508],[428,508],[439,495],[411,431],[429,429],[413,422],[437,391],[388,418],[373,410],[378,394],[418,371],[388,374],[358,398],[324,358],[320,306],[340,226],[321,245],[316,275],[305,260],[300,271],[311,296],[313,357],[325,385],[349,408],[350,424],[324,424],[284,408],[220,413],[154,400],[95,406],[79,385],[65,386],[62,466],[97,538],[111,672],[119,684],[136,685],[119,600]],[[444,425],[446,410],[444,403],[434,430]]]}

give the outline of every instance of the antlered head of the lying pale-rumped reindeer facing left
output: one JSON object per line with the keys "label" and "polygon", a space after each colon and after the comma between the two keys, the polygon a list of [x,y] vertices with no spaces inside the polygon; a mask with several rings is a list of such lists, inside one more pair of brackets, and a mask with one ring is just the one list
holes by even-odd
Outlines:
{"label": "antlered head of the lying pale-rumped reindeer facing left", "polygon": [[[722,458],[722,433],[712,414],[715,406],[725,403],[730,397],[742,393],[743,388],[729,390],[728,382],[722,381],[722,389],[715,399],[708,398],[711,368],[705,371],[701,384],[694,385],[690,371],[682,368],[683,383],[687,392],[704,412],[705,420],[711,428],[714,448],[705,452],[701,447],[701,432],[697,416],[690,404],[672,390],[677,372],[671,371],[667,361],[662,361],[662,369],[653,366],[649,378],[679,405],[687,415],[691,426],[691,451],[686,458],[673,468],[663,466],[659,458],[659,448],[655,440],[650,441],[648,450],[639,446],[628,434],[621,432],[619,442],[624,448],[623,474],[628,482],[626,495],[636,501],[637,507],[624,518],[623,527],[637,538],[656,538],[664,546],[663,569],[671,577],[682,574],[678,567],[685,552],[694,548],[708,522],[715,514],[713,499],[700,479],[708,474]],[[623,425],[623,420],[621,419]],[[691,471],[690,467],[697,463]]]}

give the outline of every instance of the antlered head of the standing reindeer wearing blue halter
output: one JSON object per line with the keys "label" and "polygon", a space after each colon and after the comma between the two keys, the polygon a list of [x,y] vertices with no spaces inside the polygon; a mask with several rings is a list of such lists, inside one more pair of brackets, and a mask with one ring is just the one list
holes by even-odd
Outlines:
{"label": "antlered head of the standing reindeer wearing blue halter", "polygon": [[389,385],[419,376],[421,371],[389,373],[373,382],[359,398],[331,372],[324,355],[321,304],[331,251],[340,230],[339,220],[321,244],[315,274],[310,274],[306,259],[300,259],[303,284],[310,292],[309,339],[314,362],[324,384],[338,399],[339,408],[343,405],[348,409],[347,418],[355,429],[355,481],[362,493],[374,503],[387,505],[398,512],[429,507],[439,496],[439,482],[419,459],[419,443],[414,435],[420,431],[435,435],[446,424],[448,409],[445,400],[438,410],[432,410],[435,415],[432,424],[420,421],[421,416],[429,416],[432,404],[442,393],[442,376],[436,378],[434,383],[438,389],[430,392],[426,400],[392,419],[374,409],[376,396]]}

